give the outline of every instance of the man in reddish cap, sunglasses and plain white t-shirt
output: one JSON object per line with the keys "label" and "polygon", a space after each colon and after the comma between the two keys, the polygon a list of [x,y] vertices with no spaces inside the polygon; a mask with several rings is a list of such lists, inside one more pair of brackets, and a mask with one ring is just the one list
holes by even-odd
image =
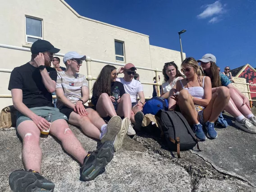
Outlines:
{"label": "man in reddish cap, sunglasses and plain white t-shirt", "polygon": [[[123,73],[123,78],[116,78],[116,81],[123,83],[125,92],[128,93],[132,101],[131,122],[134,127],[129,126],[127,134],[135,135],[135,131],[140,131],[144,114],[142,113],[143,105],[145,103],[145,96],[141,82],[134,79],[136,74],[136,67],[134,64],[128,63],[124,67],[118,69],[117,73]],[[140,100],[137,101],[139,96]],[[134,130],[135,129],[135,130]]]}

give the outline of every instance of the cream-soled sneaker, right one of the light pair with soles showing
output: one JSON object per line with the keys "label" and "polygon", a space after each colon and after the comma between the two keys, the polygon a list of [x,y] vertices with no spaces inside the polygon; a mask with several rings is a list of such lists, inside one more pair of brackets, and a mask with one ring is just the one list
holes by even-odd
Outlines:
{"label": "cream-soled sneaker, right one of the light pair with soles showing", "polygon": [[114,151],[118,151],[123,144],[123,139],[127,133],[130,120],[126,117],[122,120],[122,125],[119,133],[116,135],[114,140]]}

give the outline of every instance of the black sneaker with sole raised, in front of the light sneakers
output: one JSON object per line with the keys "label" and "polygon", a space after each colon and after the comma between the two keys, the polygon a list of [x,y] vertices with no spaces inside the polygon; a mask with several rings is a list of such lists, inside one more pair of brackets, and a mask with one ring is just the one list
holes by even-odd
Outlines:
{"label": "black sneaker with sole raised, in front of the light sneakers", "polygon": [[104,142],[96,151],[88,152],[80,169],[82,181],[91,181],[99,174],[114,156],[113,141]]}

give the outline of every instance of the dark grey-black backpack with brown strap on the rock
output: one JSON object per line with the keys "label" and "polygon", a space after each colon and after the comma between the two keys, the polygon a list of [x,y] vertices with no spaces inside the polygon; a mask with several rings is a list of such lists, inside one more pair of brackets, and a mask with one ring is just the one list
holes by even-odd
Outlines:
{"label": "dark grey-black backpack with brown strap on the rock", "polygon": [[160,122],[169,149],[177,151],[178,158],[180,151],[187,151],[196,145],[200,150],[195,133],[180,112],[159,110],[155,116]]}

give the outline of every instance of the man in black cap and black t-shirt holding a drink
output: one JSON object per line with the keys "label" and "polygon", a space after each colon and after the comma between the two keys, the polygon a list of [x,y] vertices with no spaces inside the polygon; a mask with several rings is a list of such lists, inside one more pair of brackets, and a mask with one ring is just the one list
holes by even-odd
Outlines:
{"label": "man in black cap and black t-shirt holding a drink", "polygon": [[[23,140],[22,157],[26,169],[16,170],[9,175],[10,188],[14,192],[53,191],[54,183],[40,174],[40,131],[48,129],[61,141],[64,150],[82,164],[81,179],[92,180],[113,158],[113,143],[105,142],[90,154],[82,148],[69,129],[67,117],[52,103],[51,93],[55,91],[57,72],[50,68],[50,62],[59,49],[48,41],[38,40],[33,43],[31,52],[31,61],[12,71],[8,87],[14,107],[18,110],[16,125]],[[52,123],[45,119],[49,113],[52,114]],[[105,163],[98,162],[99,155],[105,159]]]}

